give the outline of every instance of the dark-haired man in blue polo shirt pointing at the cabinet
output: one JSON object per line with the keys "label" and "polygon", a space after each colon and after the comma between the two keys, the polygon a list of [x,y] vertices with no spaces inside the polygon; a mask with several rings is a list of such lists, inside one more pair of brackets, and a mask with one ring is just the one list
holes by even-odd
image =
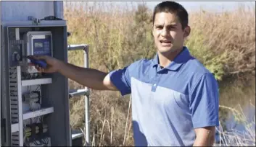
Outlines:
{"label": "dark-haired man in blue polo shirt pointing at the cabinet", "polygon": [[183,46],[189,36],[186,9],[173,1],[154,8],[152,33],[157,55],[109,74],[49,56],[47,68],[84,86],[132,94],[135,146],[212,146],[218,124],[218,84]]}

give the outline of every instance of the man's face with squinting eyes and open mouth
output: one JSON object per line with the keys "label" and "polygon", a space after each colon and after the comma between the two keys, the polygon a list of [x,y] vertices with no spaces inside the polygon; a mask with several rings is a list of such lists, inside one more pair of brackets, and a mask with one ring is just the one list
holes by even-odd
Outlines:
{"label": "man's face with squinting eyes and open mouth", "polygon": [[186,30],[187,28],[182,30],[181,22],[175,14],[157,13],[154,19],[153,35],[158,52],[168,54],[182,49],[183,39],[187,36]]}

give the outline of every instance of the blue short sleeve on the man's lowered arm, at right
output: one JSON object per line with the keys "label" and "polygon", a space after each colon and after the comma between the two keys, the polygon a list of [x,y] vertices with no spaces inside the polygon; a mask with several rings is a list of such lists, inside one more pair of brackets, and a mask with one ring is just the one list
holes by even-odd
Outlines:
{"label": "blue short sleeve on the man's lowered arm, at right", "polygon": [[219,125],[218,82],[210,74],[204,74],[190,92],[189,108],[194,128]]}

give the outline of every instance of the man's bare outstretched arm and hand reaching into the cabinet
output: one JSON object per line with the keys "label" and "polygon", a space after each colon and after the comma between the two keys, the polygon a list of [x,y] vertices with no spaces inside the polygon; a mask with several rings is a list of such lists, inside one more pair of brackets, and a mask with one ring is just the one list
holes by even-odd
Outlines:
{"label": "man's bare outstretched arm and hand reaching into the cabinet", "polygon": [[[46,68],[40,68],[36,66],[39,72],[54,73],[59,72],[68,79],[87,86],[96,90],[117,90],[117,88],[110,81],[110,76],[107,73],[98,71],[92,68],[82,68],[74,66],[70,63],[59,61],[56,58],[50,56],[32,56],[38,60],[44,60],[47,63]],[[34,66],[34,65],[33,65]]]}

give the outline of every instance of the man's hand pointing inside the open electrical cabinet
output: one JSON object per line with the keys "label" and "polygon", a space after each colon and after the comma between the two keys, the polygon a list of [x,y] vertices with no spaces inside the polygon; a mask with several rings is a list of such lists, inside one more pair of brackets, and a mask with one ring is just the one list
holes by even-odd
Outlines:
{"label": "man's hand pointing inside the open electrical cabinet", "polygon": [[59,71],[59,68],[61,68],[62,61],[59,61],[57,58],[52,58],[47,55],[42,56],[36,56],[36,55],[30,55],[30,58],[36,59],[36,60],[43,60],[46,61],[47,67],[41,68],[38,65],[34,65],[33,63],[29,63],[30,66],[35,66],[38,72],[43,73],[54,73]]}

